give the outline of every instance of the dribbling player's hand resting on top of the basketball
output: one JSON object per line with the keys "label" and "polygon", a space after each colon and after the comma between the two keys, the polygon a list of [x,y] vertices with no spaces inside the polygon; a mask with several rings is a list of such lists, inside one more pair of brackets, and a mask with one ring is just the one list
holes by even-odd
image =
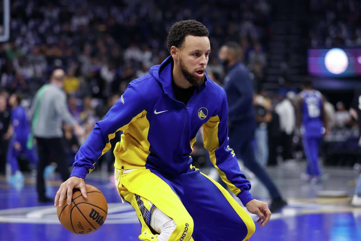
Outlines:
{"label": "dribbling player's hand resting on top of the basketball", "polygon": [[58,205],[58,202],[59,206],[61,206],[66,197],[68,197],[68,205],[70,205],[74,188],[80,189],[83,197],[88,198],[87,191],[85,189],[84,179],[81,177],[72,176],[60,185],[60,188],[55,195],[54,206],[56,207]]}

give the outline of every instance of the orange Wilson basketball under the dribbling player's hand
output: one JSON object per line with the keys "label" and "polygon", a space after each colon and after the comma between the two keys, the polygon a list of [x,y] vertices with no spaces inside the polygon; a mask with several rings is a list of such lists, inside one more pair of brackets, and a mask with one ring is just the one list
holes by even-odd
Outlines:
{"label": "orange Wilson basketball under the dribbling player's hand", "polygon": [[63,205],[57,206],[57,214],[64,228],[76,234],[88,234],[98,230],[103,225],[108,212],[106,199],[92,185],[85,185],[88,198],[85,199],[79,189],[73,190],[71,203],[66,198]]}

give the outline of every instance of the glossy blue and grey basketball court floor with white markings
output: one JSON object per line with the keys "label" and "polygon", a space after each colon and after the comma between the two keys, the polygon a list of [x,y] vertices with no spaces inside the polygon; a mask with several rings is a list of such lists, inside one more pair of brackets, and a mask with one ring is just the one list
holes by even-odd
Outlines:
{"label": "glossy blue and grey basketball court floor with white markings", "polygon": [[[299,178],[305,164],[298,162],[268,168],[287,198],[288,206],[272,214],[265,227],[256,224],[251,241],[360,241],[361,208],[350,205],[358,173],[351,168],[325,167],[323,182],[311,185]],[[209,173],[209,169],[203,171]],[[268,201],[266,189],[251,174],[246,173],[246,176],[251,180],[253,196]],[[121,203],[110,178],[102,171],[93,171],[87,176],[86,183],[96,186],[105,195],[108,216],[98,231],[81,236],[62,227],[52,203],[37,202],[34,177],[26,177],[22,190],[12,189],[1,177],[0,241],[138,240],[140,224],[135,212],[129,204]],[[60,183],[57,175],[48,181],[49,197],[55,196]],[[339,191],[336,194],[346,195],[323,197],[328,194],[322,191]],[[255,215],[252,217],[257,220]]]}

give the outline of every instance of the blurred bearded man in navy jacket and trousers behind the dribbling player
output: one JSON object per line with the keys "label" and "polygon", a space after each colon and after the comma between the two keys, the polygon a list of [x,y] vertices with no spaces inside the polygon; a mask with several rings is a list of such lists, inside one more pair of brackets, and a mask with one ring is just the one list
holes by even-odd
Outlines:
{"label": "blurred bearded man in navy jacket and trousers behind the dribbling player", "polygon": [[256,120],[253,108],[253,85],[249,70],[240,61],[242,49],[235,42],[225,43],[219,50],[219,59],[227,69],[223,87],[228,99],[229,144],[244,166],[260,179],[268,189],[272,204],[271,212],[287,205],[276,185],[265,169],[256,162],[252,141],[255,135]]}

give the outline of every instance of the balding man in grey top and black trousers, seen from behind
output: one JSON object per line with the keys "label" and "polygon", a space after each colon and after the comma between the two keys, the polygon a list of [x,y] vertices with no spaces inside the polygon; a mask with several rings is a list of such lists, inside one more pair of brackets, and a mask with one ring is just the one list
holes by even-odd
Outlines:
{"label": "balding man in grey top and black trousers, seen from behind", "polygon": [[32,133],[38,143],[36,189],[39,202],[52,201],[45,196],[43,176],[44,169],[49,164],[49,156],[52,156],[52,160],[57,163],[63,181],[70,175],[62,141],[62,122],[72,125],[77,133],[81,132],[81,127],[66,106],[66,95],[62,90],[64,79],[64,70],[55,69],[50,76],[50,83],[43,85],[36,92],[31,106]]}

